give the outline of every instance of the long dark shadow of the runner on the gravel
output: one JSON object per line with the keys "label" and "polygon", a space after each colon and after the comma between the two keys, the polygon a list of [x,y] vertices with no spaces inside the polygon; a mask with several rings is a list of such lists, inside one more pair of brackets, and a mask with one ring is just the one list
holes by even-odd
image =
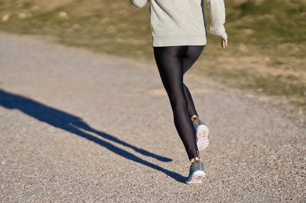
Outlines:
{"label": "long dark shadow of the runner on the gravel", "polygon": [[182,175],[175,173],[173,171],[167,170],[165,168],[162,168],[160,166],[157,166],[155,164],[152,164],[148,161],[145,161],[135,156],[134,154],[124,149],[118,148],[109,142],[101,140],[98,137],[92,136],[89,133],[86,133],[85,131],[95,133],[105,139],[116,142],[125,147],[132,148],[138,153],[141,153],[145,156],[153,157],[159,161],[170,162],[172,161],[172,159],[153,154],[152,152],[149,152],[145,149],[137,148],[135,146],[132,146],[131,144],[128,144],[124,141],[119,140],[118,138],[112,135],[109,135],[107,133],[93,129],[89,125],[87,125],[86,122],[82,121],[82,119],[77,116],[71,115],[64,111],[54,109],[52,107],[48,107],[44,104],[41,104],[37,101],[34,101],[30,98],[26,98],[24,96],[13,94],[10,92],[5,92],[2,89],[0,89],[0,106],[7,108],[7,109],[18,109],[22,111],[23,113],[29,116],[32,116],[33,118],[36,118],[39,121],[48,123],[51,126],[54,126],[56,128],[64,129],[68,132],[71,132],[81,137],[87,138],[88,140],[93,141],[105,148],[108,148],[110,151],[122,157],[125,157],[131,161],[143,164],[145,166],[149,166],[153,169],[159,170],[165,173],[166,175],[174,178],[176,181],[184,182],[185,177],[183,177]]}

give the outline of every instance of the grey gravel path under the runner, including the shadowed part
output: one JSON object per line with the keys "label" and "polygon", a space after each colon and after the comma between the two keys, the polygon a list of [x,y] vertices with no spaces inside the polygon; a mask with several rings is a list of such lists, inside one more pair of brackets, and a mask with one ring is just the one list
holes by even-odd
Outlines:
{"label": "grey gravel path under the runner, including the shadowed part", "polygon": [[305,117],[185,82],[211,131],[201,185],[153,62],[0,34],[0,203],[305,203]]}

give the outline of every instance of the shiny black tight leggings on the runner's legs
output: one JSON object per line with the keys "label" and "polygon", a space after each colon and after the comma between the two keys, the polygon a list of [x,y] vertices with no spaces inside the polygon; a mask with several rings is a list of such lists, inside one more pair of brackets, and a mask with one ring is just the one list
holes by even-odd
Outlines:
{"label": "shiny black tight leggings on the runner's legs", "polygon": [[189,160],[198,157],[195,129],[191,121],[197,115],[183,74],[197,61],[204,46],[154,47],[155,61],[168,93],[174,114],[175,128],[185,146]]}

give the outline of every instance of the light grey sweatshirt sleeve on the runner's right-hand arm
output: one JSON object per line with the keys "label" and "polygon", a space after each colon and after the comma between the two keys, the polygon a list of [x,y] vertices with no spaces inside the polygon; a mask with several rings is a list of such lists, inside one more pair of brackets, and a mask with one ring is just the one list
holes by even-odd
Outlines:
{"label": "light grey sweatshirt sleeve on the runner's right-hand arm", "polygon": [[227,39],[227,34],[223,25],[225,23],[224,0],[206,0],[206,2],[208,3],[210,11],[210,33],[222,39]]}

